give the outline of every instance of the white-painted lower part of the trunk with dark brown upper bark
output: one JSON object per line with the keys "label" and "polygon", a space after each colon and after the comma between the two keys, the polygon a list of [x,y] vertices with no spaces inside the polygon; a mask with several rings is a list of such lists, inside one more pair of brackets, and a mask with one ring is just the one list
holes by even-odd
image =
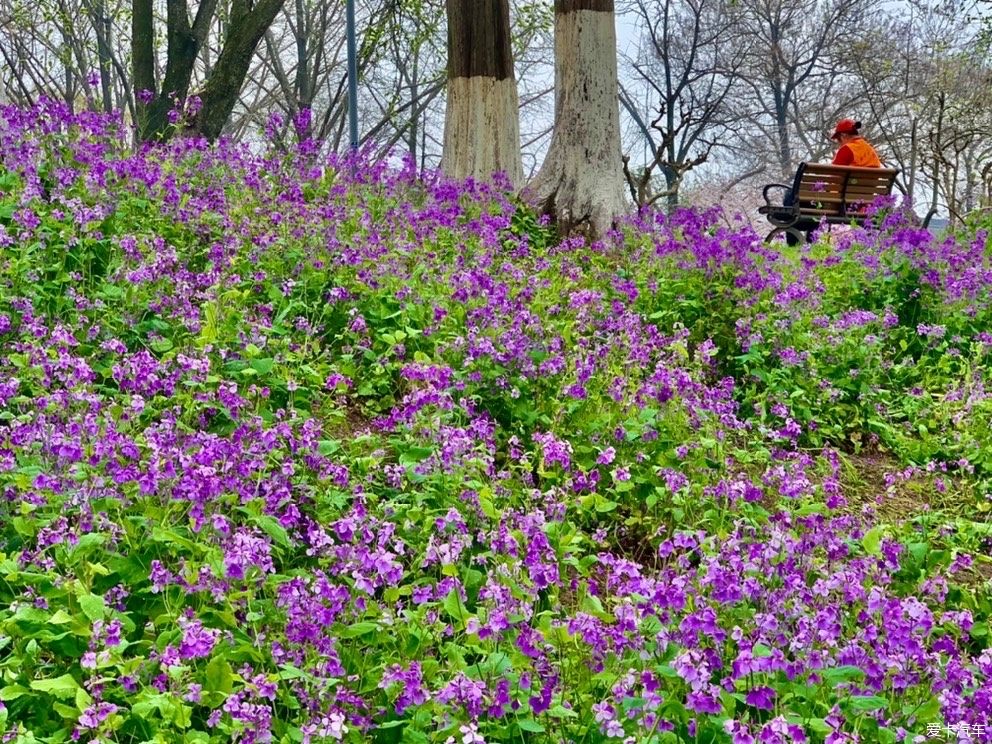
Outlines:
{"label": "white-painted lower part of the trunk with dark brown upper bark", "polygon": [[519,116],[514,78],[451,78],[441,169],[452,178],[482,181],[502,172],[519,188],[524,177]]}

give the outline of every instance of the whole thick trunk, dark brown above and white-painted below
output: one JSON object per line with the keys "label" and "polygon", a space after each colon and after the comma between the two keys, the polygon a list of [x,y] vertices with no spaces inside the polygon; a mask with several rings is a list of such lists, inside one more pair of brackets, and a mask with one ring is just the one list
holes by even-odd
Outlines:
{"label": "whole thick trunk, dark brown above and white-painted below", "polygon": [[523,181],[508,0],[447,0],[448,100],[441,168],[452,178]]}

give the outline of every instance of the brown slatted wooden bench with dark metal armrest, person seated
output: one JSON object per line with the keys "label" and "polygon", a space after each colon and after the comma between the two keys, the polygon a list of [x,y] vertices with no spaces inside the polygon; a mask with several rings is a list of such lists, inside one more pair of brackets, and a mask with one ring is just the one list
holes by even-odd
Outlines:
{"label": "brown slatted wooden bench with dark metal armrest, person seated", "polygon": [[[774,225],[765,242],[784,233],[789,245],[798,245],[810,239],[821,221],[831,225],[863,225],[872,200],[891,194],[898,174],[893,168],[800,163],[791,187],[770,183],[761,191],[765,205],[758,212]],[[772,204],[768,192],[774,188],[783,189],[783,201],[791,188],[793,203]]]}

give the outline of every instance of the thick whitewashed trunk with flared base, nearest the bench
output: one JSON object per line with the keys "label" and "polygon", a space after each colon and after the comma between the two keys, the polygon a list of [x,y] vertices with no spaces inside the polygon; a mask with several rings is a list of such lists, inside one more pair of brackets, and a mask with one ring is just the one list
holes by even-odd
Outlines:
{"label": "thick whitewashed trunk with flared base, nearest the bench", "polygon": [[591,238],[627,211],[613,0],[555,0],[555,128],[528,196]]}

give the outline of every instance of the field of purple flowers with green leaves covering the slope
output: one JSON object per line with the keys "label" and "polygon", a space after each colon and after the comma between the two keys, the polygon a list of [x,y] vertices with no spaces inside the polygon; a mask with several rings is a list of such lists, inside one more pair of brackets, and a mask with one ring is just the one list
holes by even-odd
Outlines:
{"label": "field of purple flowers with green leaves covering the slope", "polygon": [[992,261],[0,110],[0,731],[992,741]]}

